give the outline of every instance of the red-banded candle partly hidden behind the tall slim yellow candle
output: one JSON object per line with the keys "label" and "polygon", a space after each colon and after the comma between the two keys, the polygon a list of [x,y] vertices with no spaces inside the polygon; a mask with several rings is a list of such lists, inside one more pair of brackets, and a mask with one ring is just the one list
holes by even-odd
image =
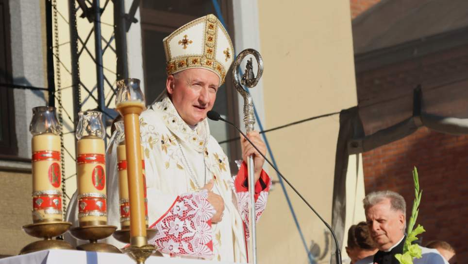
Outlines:
{"label": "red-banded candle partly hidden behind the tall slim yellow candle", "polygon": [[[119,205],[120,205],[120,226],[122,229],[130,228],[130,200],[128,195],[128,176],[127,176],[127,159],[125,150],[125,131],[123,121],[116,122],[117,128],[117,159],[118,159],[118,176],[119,176]],[[141,148],[141,157],[143,157],[143,148]],[[143,193],[145,198],[145,224],[148,228],[148,199],[146,196],[146,179],[145,179],[145,160],[141,160],[142,175],[143,175]]]}

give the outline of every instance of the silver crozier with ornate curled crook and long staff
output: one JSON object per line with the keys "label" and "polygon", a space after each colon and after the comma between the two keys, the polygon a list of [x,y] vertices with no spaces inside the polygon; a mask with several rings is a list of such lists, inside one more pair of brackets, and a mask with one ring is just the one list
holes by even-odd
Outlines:
{"label": "silver crozier with ornate curled crook and long staff", "polygon": [[[254,49],[243,50],[234,61],[233,65],[233,83],[237,91],[244,97],[244,124],[246,133],[253,131],[253,125],[255,124],[255,115],[253,113],[253,101],[251,95],[239,85],[239,76],[237,75],[237,69],[239,68],[242,59],[247,55],[253,55],[257,60],[258,70],[257,77],[253,74],[252,59],[247,61],[247,66],[244,74],[242,75],[241,84],[249,88],[253,88],[257,85],[260,77],[263,73],[263,60],[260,53]],[[247,171],[249,172],[249,231],[250,231],[250,248],[251,256],[249,263],[257,264],[257,237],[256,237],[256,213],[255,213],[255,166],[253,164],[253,157],[247,158]]]}

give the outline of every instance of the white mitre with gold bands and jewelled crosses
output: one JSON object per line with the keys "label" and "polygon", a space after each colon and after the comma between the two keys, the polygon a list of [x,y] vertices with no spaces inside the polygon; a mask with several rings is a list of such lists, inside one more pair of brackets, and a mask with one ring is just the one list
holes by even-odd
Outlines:
{"label": "white mitre with gold bands and jewelled crosses", "polygon": [[188,22],[163,39],[167,75],[190,69],[211,70],[224,83],[231,67],[234,48],[226,29],[215,15]]}

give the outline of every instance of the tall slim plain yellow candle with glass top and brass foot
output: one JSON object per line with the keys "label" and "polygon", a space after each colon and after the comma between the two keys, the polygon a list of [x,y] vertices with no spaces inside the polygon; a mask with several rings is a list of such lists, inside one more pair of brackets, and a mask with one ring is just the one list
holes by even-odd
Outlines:
{"label": "tall slim plain yellow candle with glass top and brass foot", "polygon": [[124,249],[137,263],[156,250],[148,245],[145,221],[145,197],[142,174],[139,116],[145,109],[145,98],[140,90],[140,80],[117,81],[117,111],[123,116],[125,126],[125,153],[127,158],[128,193],[130,202],[130,246]]}

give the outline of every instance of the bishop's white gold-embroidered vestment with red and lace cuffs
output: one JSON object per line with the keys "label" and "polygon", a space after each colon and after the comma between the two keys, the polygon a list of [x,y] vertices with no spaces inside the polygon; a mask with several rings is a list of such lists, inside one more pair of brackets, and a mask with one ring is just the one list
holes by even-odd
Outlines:
{"label": "bishop's white gold-embroidered vestment with red and lace cuffs", "polygon": [[[210,135],[207,120],[190,128],[168,97],[154,103],[140,116],[141,145],[144,150],[148,217],[159,234],[150,242],[165,256],[198,257],[228,262],[247,262],[247,188],[245,163],[236,179],[217,141]],[[118,174],[115,135],[106,153],[108,224],[120,229]],[[244,175],[241,176],[241,171]],[[243,178],[242,178],[243,177]],[[213,192],[224,200],[224,215],[211,223],[215,213],[199,188],[214,179]],[[257,219],[267,201],[270,180],[262,172],[262,186],[255,186]],[[76,195],[75,195],[76,196]],[[75,209],[67,210],[67,220],[77,225]],[[107,243],[124,244],[113,237]]]}

